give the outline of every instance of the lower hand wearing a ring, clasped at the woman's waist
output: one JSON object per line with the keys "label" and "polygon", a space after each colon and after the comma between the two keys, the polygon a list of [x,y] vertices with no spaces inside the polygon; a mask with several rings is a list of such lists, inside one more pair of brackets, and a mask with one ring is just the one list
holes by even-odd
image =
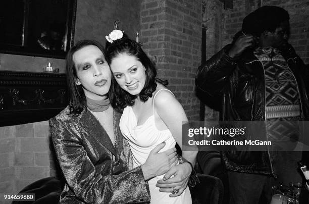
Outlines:
{"label": "lower hand wearing a ring, clasped at the woman's waist", "polygon": [[[160,188],[160,192],[172,193],[174,189],[178,190],[178,193],[169,195],[170,197],[177,197],[186,189],[191,171],[192,167],[187,162],[176,165],[164,175],[163,180],[157,182],[156,186]],[[171,178],[172,175],[174,177]]]}

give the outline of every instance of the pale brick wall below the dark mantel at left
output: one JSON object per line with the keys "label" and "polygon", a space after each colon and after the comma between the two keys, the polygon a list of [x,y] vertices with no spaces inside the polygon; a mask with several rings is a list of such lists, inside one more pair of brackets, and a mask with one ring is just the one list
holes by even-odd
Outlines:
{"label": "pale brick wall below the dark mantel at left", "polygon": [[47,121],[0,127],[0,203],[3,193],[50,175],[48,140]]}

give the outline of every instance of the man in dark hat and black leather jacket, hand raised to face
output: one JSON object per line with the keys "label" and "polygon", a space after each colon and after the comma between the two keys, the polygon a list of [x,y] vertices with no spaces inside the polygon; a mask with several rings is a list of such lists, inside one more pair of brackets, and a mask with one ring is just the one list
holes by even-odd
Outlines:
{"label": "man in dark hat and black leather jacket, hand raised to face", "polygon": [[[270,127],[277,121],[308,119],[309,102],[303,80],[307,70],[287,42],[289,29],[287,11],[261,7],[244,18],[242,30],[231,44],[198,68],[196,86],[205,98],[216,101],[212,107],[220,112],[220,120],[267,121],[269,136]],[[283,112],[287,115],[282,116]],[[293,171],[280,167],[278,158],[288,160]],[[277,181],[301,181],[296,175],[301,151],[277,155],[270,151],[226,151],[222,152],[222,159],[228,170],[231,203],[259,203],[262,198],[270,202],[276,171],[282,168],[288,175],[279,171]]]}

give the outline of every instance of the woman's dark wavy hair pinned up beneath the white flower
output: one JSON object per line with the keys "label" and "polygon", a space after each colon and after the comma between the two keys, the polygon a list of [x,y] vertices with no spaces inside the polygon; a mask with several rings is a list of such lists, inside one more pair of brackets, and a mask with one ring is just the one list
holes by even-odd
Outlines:
{"label": "woman's dark wavy hair pinned up beneath the white flower", "polygon": [[[167,80],[163,81],[161,79],[156,78],[157,69],[155,64],[149,59],[146,53],[141,48],[141,45],[130,39],[125,33],[123,33],[123,37],[121,39],[115,40],[113,43],[106,42],[106,60],[111,65],[111,62],[114,58],[121,54],[127,54],[129,56],[135,57],[137,60],[141,62],[141,64],[145,67],[146,71],[146,81],[143,89],[139,93],[139,97],[141,101],[148,100],[149,97],[152,97],[152,93],[155,92],[157,88],[157,82],[167,85]],[[122,111],[126,106],[133,106],[134,99],[137,97],[136,95],[131,95],[124,89],[122,89],[116,79],[112,77],[112,85],[110,89],[110,99],[112,105],[115,109]]]}

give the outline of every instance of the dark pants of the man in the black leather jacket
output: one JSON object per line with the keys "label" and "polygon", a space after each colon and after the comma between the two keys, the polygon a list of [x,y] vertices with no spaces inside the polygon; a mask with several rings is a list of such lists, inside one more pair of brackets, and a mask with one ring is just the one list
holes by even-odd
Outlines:
{"label": "dark pants of the man in the black leather jacket", "polygon": [[271,176],[228,171],[230,204],[270,203]]}

